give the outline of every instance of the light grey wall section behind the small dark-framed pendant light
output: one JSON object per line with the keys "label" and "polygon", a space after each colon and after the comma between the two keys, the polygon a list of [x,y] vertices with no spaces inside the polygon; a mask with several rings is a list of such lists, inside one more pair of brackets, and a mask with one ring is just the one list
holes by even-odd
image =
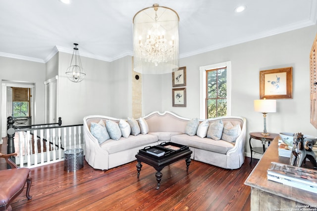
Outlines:
{"label": "light grey wall section behind the small dark-framed pendant light", "polygon": [[71,56],[63,52],[58,55],[58,116],[62,124],[83,124],[85,116],[109,115],[109,62],[81,56],[86,77],[80,83],[73,83],[65,74]]}

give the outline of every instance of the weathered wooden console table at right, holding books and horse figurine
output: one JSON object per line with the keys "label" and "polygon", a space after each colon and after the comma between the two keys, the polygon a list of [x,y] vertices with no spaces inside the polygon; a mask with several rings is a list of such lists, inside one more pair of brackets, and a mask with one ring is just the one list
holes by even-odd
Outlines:
{"label": "weathered wooden console table at right, holding books and horse figurine", "polygon": [[[278,156],[278,138],[273,139],[244,183],[251,186],[251,211],[316,209],[317,194],[267,180],[271,162],[289,163],[289,158]],[[311,207],[303,207],[307,205]]]}

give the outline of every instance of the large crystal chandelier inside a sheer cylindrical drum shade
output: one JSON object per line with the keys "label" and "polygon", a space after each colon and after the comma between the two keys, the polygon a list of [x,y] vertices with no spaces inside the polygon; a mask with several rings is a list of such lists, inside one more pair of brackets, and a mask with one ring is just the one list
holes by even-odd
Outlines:
{"label": "large crystal chandelier inside a sheer cylindrical drum shade", "polygon": [[178,70],[178,14],[155,3],[133,17],[134,71],[165,74]]}

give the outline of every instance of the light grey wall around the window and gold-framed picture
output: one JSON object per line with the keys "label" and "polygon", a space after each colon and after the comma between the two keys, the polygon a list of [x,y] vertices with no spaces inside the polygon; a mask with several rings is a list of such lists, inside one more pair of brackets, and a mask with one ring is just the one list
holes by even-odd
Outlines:
{"label": "light grey wall around the window and gold-framed picture", "polygon": [[[154,110],[172,111],[180,116],[195,118],[200,115],[199,67],[231,61],[232,64],[232,116],[247,119],[246,150],[250,154],[250,131],[263,131],[263,115],[253,108],[253,100],[260,98],[259,75],[261,70],[293,67],[293,99],[278,99],[277,112],[266,119],[269,132],[302,132],[317,136],[317,129],[310,124],[310,69],[309,54],[317,33],[317,27],[307,27],[264,39],[246,42],[180,59],[180,67],[186,66],[187,107],[172,107],[171,74],[144,83],[143,101]],[[149,78],[147,78],[149,79]],[[161,95],[162,107],[151,104],[152,95]],[[259,143],[257,143],[259,142]],[[255,145],[261,146],[260,141]]]}

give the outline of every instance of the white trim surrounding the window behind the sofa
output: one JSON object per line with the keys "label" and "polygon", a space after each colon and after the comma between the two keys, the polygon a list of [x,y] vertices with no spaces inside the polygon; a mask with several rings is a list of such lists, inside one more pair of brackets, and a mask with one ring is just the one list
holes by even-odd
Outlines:
{"label": "white trim surrounding the window behind the sofa", "polygon": [[200,119],[206,119],[206,70],[227,67],[227,116],[231,116],[231,61],[199,67]]}

